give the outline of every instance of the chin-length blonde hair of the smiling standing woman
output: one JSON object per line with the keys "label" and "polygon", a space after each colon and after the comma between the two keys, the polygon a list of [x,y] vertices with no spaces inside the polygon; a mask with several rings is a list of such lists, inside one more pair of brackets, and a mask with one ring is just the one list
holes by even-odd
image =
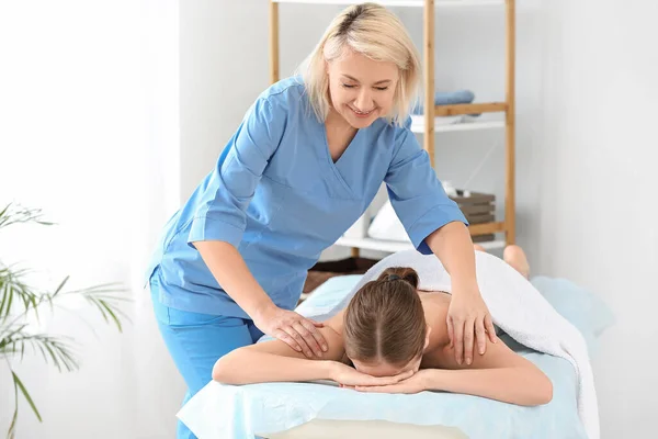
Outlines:
{"label": "chin-length blonde hair of the smiling standing woman", "polygon": [[400,76],[393,114],[387,115],[387,120],[389,123],[397,120],[398,125],[402,125],[418,93],[420,57],[398,18],[375,3],[354,4],[338,14],[300,68],[310,106],[318,120],[324,122],[331,106],[325,63],[340,58],[345,47],[398,67]]}

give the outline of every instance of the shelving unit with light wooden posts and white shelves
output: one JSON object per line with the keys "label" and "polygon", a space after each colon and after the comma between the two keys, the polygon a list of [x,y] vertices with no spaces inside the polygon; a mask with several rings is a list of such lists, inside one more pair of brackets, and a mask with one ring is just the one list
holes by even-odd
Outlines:
{"label": "shelving unit with light wooden posts and white shelves", "polygon": [[[347,0],[270,0],[270,78],[276,82],[279,77],[279,3],[340,4],[348,5],[361,1]],[[514,0],[379,0],[385,7],[409,7],[423,9],[423,72],[424,102],[423,115],[412,116],[411,131],[423,134],[423,148],[428,151],[430,162],[434,164],[435,136],[449,132],[467,132],[477,130],[506,131],[506,191],[504,219],[469,226],[472,236],[501,233],[504,239],[478,243],[486,249],[504,247],[515,240],[515,193],[514,193],[514,58],[515,58],[515,1]],[[504,7],[506,10],[506,83],[504,102],[483,102],[457,105],[434,105],[434,16],[441,8]],[[464,114],[503,113],[503,121],[477,121],[467,123],[442,124],[440,117]],[[467,189],[467,188],[465,188]],[[359,249],[371,249],[395,252],[412,248],[411,243],[382,240],[373,238],[342,237],[337,245],[351,247],[352,255]]]}

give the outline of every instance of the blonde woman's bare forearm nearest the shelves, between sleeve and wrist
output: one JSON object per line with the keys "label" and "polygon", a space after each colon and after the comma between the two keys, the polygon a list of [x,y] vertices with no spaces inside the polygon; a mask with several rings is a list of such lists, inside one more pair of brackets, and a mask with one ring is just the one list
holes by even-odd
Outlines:
{"label": "blonde woman's bare forearm nearest the shelves, between sleeve and wrist", "polygon": [[475,251],[464,223],[453,222],[436,229],[426,243],[450,273],[454,291],[477,290]]}

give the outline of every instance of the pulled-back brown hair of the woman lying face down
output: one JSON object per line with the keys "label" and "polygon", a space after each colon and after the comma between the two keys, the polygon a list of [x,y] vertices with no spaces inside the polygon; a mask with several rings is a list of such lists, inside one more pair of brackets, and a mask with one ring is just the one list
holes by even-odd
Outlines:
{"label": "pulled-back brown hair of the woman lying face down", "polygon": [[427,333],[412,268],[386,269],[363,285],[345,309],[345,353],[352,360],[404,365],[423,350]]}

